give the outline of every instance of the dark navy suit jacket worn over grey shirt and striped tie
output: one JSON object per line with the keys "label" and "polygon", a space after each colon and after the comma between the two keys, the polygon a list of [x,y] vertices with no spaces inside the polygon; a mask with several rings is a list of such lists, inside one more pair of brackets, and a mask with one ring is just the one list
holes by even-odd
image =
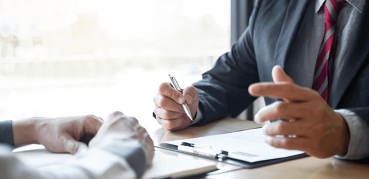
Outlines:
{"label": "dark navy suit jacket worn over grey shirt and striped tie", "polygon": [[[255,97],[248,87],[256,82],[272,82],[273,66],[282,68],[307,8],[308,0],[259,0],[249,27],[237,44],[218,59],[214,68],[194,83],[199,91],[198,124],[238,116]],[[345,53],[344,69],[338,87],[331,89],[332,109],[348,109],[369,123],[369,3],[365,4],[361,24]],[[286,71],[288,74],[289,72]],[[292,76],[293,78],[293,76]],[[275,99],[266,98],[266,104]]]}

